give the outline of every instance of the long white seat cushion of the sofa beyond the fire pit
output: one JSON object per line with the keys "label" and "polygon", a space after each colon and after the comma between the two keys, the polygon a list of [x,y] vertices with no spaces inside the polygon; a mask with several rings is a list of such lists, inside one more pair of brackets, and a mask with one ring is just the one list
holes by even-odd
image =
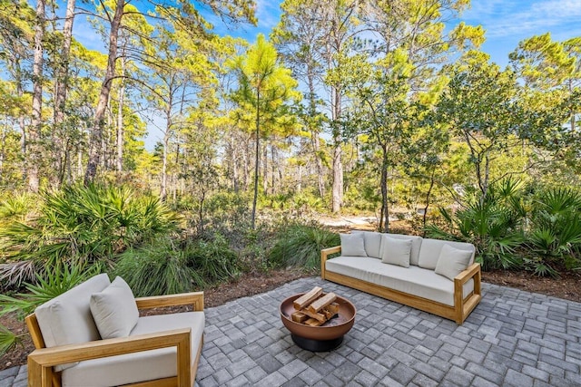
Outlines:
{"label": "long white seat cushion of the sofa beyond the fire pit", "polygon": [[[329,259],[325,268],[328,272],[454,306],[454,281],[439,276],[433,270],[389,265],[379,259],[362,256],[338,256]],[[468,280],[463,287],[466,298],[474,290],[474,280]]]}

